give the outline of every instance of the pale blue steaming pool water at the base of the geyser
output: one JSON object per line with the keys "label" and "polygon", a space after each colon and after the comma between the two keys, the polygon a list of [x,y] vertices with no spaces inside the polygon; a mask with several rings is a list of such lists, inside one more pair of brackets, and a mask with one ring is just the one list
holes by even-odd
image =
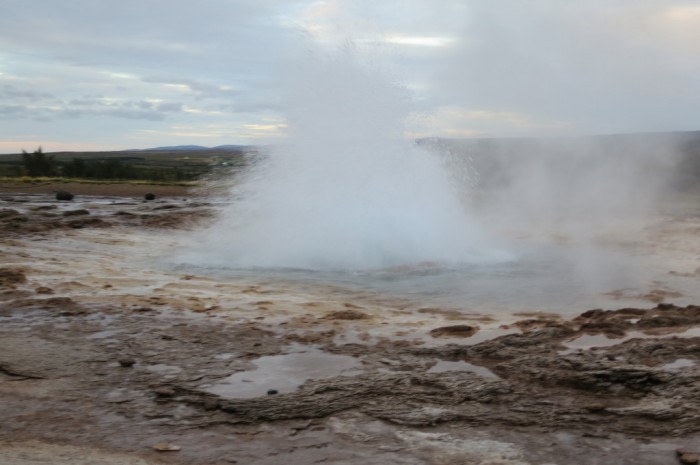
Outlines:
{"label": "pale blue steaming pool water at the base of the geyser", "polygon": [[[439,307],[472,313],[547,311],[572,315],[592,308],[651,303],[638,297],[665,272],[647,259],[613,248],[548,245],[491,264],[418,263],[361,271],[227,268],[188,264],[179,270],[271,288],[321,291],[350,302],[395,300],[403,308]],[[608,295],[622,291],[627,298]]]}

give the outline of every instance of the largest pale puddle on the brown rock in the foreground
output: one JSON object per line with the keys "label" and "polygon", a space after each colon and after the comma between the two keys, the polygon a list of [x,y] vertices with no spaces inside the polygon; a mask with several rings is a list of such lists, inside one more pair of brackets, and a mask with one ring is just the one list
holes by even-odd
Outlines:
{"label": "largest pale puddle on the brown rock in the foreground", "polygon": [[334,355],[316,349],[253,360],[257,369],[235,373],[221,383],[200,388],[222,397],[250,399],[267,395],[274,389],[284,394],[294,392],[309,379],[356,375],[360,361],[347,355]]}

